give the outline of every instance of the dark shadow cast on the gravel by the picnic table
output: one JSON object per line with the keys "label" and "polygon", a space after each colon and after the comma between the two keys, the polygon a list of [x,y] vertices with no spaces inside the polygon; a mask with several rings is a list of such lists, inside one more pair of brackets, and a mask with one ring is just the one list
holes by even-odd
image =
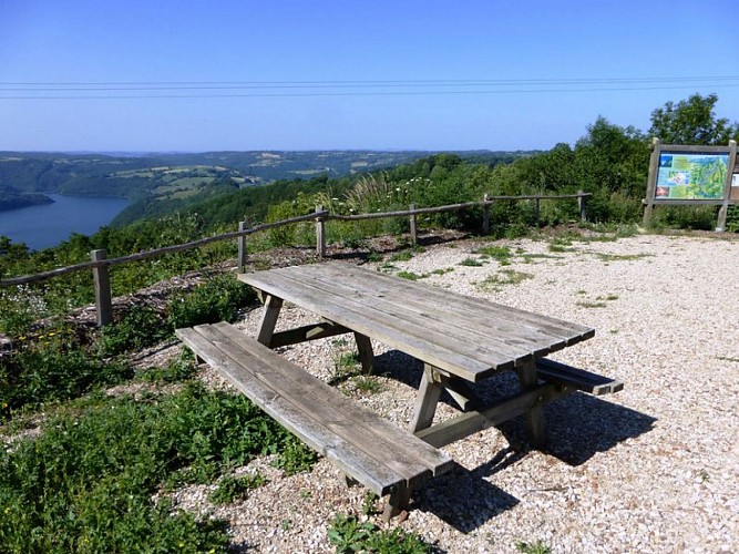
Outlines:
{"label": "dark shadow cast on the gravel by the picnic table", "polygon": [[[418,389],[423,365],[410,356],[391,350],[377,357],[376,369],[378,373]],[[519,380],[515,373],[509,371],[479,383],[475,392],[487,402],[505,398],[517,389]],[[606,398],[614,402],[575,392],[546,404],[546,453],[569,465],[581,465],[596,453],[605,452],[654,428],[656,418],[615,403],[618,393]],[[455,406],[445,393],[441,402]],[[458,531],[466,533],[515,506],[519,499],[490,483],[487,479],[526,455],[525,423],[523,418],[516,418],[499,425],[497,430],[510,447],[474,470],[456,465],[449,473],[431,480],[413,494],[411,509],[431,512]]]}

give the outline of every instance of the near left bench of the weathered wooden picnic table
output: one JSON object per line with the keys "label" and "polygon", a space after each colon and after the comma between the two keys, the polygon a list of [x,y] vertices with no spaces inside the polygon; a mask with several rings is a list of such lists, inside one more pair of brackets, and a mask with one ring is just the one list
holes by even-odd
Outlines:
{"label": "near left bench of the weathered wooden picnic table", "polygon": [[348,476],[379,496],[383,519],[407,509],[414,485],[452,465],[431,447],[226,322],[177,329],[195,355]]}

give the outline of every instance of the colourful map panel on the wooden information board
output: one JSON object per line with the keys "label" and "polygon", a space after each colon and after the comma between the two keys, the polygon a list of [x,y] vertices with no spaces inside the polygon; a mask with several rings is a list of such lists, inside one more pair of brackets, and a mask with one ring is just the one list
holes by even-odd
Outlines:
{"label": "colourful map panel on the wooden information board", "polygon": [[729,154],[663,152],[655,199],[721,199],[728,166]]}

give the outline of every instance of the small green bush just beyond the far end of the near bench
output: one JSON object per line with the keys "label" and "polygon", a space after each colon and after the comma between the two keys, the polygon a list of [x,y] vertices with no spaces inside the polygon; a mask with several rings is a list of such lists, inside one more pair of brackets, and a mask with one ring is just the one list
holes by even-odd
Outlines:
{"label": "small green bush just beyond the far end of the near bench", "polygon": [[233,321],[239,308],[256,299],[256,294],[233,275],[219,275],[189,293],[177,295],[168,305],[168,321],[174,329],[217,321]]}

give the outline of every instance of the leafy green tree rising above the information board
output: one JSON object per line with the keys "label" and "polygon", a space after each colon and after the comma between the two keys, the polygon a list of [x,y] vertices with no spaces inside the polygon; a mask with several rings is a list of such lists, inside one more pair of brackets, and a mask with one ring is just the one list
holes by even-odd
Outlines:
{"label": "leafy green tree rising above the information board", "polygon": [[716,94],[694,94],[675,105],[667,102],[651,112],[649,133],[665,144],[719,144],[739,138],[739,123],[717,117],[714,107]]}

